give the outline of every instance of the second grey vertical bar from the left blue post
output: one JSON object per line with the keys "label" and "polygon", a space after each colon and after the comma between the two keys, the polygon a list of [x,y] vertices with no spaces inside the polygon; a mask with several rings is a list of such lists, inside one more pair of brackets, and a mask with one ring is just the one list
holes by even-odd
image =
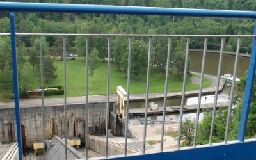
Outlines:
{"label": "second grey vertical bar from the left blue post", "polygon": [[67,153],[67,67],[66,67],[66,36],[63,36],[63,61],[64,61],[64,136],[65,136],[65,159]]}

